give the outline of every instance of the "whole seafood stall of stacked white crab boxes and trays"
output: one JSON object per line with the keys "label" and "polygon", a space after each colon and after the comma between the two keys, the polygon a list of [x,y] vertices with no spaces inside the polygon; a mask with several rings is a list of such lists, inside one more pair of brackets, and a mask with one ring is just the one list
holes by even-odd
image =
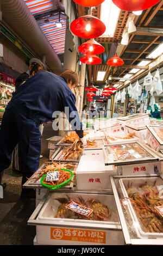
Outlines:
{"label": "whole seafood stall of stacked white crab boxes and trays", "polygon": [[[145,114],[137,114],[134,119],[139,124],[142,119],[147,124],[150,121]],[[124,124],[119,126],[128,129]],[[92,132],[95,139],[99,131]],[[74,141],[67,143],[72,138]],[[163,155],[159,151],[140,143],[136,136],[135,140],[112,144],[105,144],[105,137],[100,140],[102,148],[95,139],[92,148],[81,151],[77,144],[75,152],[70,150],[77,143],[72,131],[57,141],[56,138],[49,162],[24,184],[36,188],[36,209],[28,220],[28,224],[36,225],[35,245],[163,244],[162,217],[155,213],[155,207],[160,211],[159,206],[163,205],[155,192],[155,189],[161,191],[162,184]],[[67,155],[66,150],[71,154]],[[73,178],[65,186],[49,189],[43,185],[48,173],[61,175],[67,169]],[[151,200],[159,202],[153,206],[149,200],[144,206],[147,216],[153,220],[148,225],[139,205],[133,203],[135,190],[144,204],[148,197],[151,199],[151,193],[154,193]]]}

